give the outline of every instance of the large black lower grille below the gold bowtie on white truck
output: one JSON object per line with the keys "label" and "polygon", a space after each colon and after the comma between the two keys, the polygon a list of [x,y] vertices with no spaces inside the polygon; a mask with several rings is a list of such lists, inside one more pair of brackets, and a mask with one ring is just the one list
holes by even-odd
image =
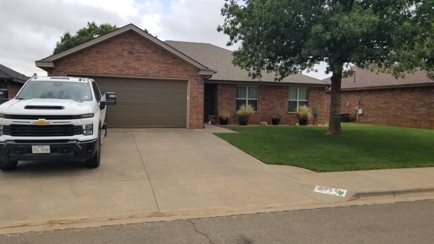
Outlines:
{"label": "large black lower grille below the gold bowtie on white truck", "polygon": [[14,137],[63,137],[82,134],[81,127],[73,124],[26,125],[11,124],[3,127],[3,134]]}

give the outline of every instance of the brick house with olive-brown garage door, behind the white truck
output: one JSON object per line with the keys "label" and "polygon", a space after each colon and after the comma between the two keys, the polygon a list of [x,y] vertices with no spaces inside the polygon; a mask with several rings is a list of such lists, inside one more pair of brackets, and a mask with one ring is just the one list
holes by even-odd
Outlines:
{"label": "brick house with olive-brown garage door, behind the white truck", "polygon": [[[329,84],[302,74],[262,82],[234,67],[232,52],[207,43],[158,40],[133,24],[35,61],[49,76],[93,78],[102,91],[117,93],[117,105],[109,108],[109,127],[203,128],[205,115],[235,112],[249,103],[257,112],[250,124],[297,122],[297,104],[319,108],[324,119],[325,87]],[[206,95],[205,95],[206,94]],[[229,121],[237,124],[235,118]]]}

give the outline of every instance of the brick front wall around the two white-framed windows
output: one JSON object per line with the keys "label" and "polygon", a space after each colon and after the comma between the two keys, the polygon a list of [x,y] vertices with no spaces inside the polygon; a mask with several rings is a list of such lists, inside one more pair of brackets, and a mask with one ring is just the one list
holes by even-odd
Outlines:
{"label": "brick front wall around the two white-framed windows", "polygon": [[[324,93],[324,87],[309,88],[308,105],[310,107],[316,106],[319,111],[319,119],[316,124],[324,122]],[[280,124],[298,123],[295,113],[288,113],[288,95],[288,86],[260,85],[258,87],[258,111],[250,115],[249,124],[259,124],[263,121],[271,124],[270,116],[275,113],[282,116]],[[217,84],[216,100],[217,114],[222,109],[235,113],[237,109],[237,85]],[[228,124],[238,124],[237,117],[231,117]]]}

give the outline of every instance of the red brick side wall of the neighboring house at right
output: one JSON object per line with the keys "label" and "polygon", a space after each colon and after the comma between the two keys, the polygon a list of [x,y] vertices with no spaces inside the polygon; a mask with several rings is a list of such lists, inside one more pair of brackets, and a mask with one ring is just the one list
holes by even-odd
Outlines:
{"label": "red brick side wall of the neighboring house at right", "polygon": [[[326,98],[328,118],[329,92]],[[341,91],[341,113],[355,118],[358,100],[359,123],[434,129],[434,86]]]}

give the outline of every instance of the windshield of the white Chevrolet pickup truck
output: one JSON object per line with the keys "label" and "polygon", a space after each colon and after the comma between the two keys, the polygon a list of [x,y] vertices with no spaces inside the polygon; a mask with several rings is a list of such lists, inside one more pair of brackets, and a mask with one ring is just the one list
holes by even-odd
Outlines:
{"label": "windshield of the white Chevrolet pickup truck", "polygon": [[24,85],[16,99],[46,98],[92,100],[88,83],[72,81],[31,80]]}

